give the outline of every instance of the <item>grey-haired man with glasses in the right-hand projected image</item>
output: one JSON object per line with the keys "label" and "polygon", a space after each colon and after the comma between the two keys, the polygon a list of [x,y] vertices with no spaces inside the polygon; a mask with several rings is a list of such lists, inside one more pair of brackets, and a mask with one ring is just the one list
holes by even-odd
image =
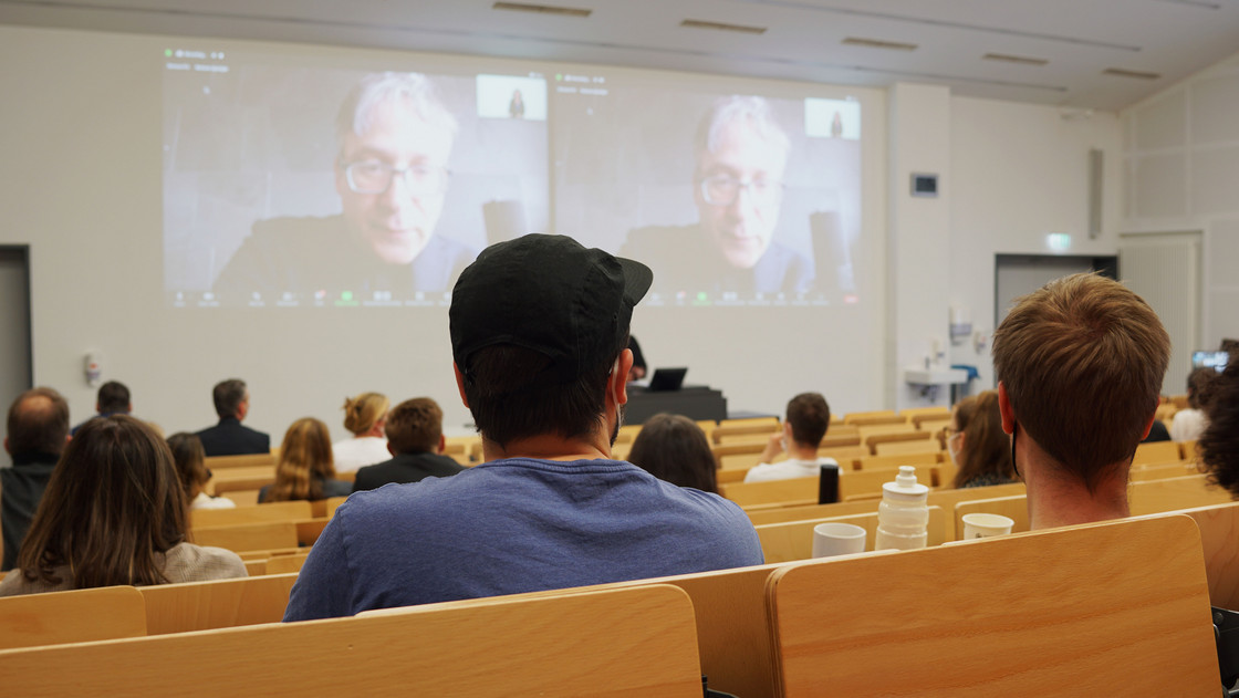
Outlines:
{"label": "grey-haired man with glasses in the right-hand projected image", "polygon": [[662,293],[809,290],[808,258],[773,239],[789,148],[766,99],[717,100],[695,141],[698,224],[632,231],[621,254],[650,264]]}

